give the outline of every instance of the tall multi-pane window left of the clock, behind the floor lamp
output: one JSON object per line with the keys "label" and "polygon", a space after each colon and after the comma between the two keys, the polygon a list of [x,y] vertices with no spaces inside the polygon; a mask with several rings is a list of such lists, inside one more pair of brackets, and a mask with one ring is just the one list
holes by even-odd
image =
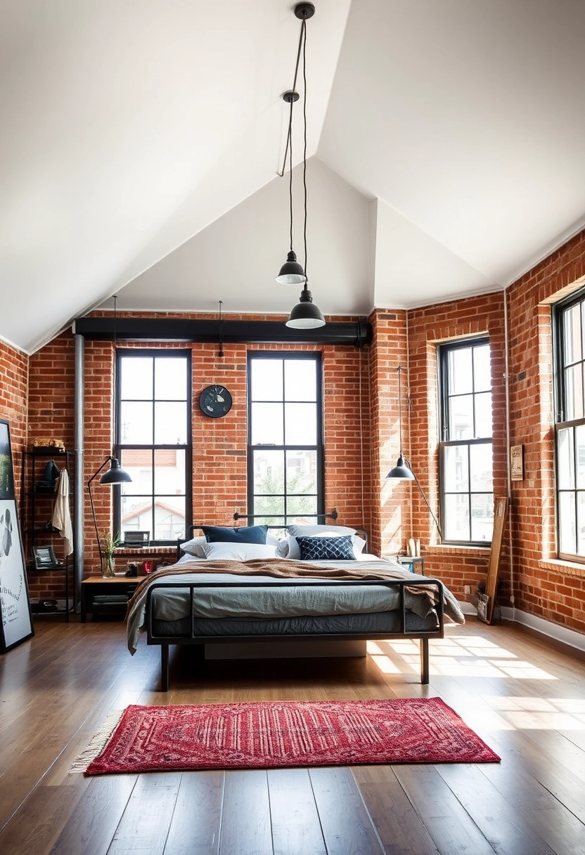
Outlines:
{"label": "tall multi-pane window left of the clock, behind the floor lamp", "polygon": [[114,530],[169,543],[192,516],[191,353],[120,349],[116,377],[116,451],[132,482],[115,489]]}

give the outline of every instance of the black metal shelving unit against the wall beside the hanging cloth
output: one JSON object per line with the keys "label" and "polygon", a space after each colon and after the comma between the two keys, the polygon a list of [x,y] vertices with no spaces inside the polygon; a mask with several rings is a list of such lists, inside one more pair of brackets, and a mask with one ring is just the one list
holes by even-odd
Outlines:
{"label": "black metal shelving unit against the wall beside the hanging cloth", "polygon": [[[56,494],[54,491],[39,489],[38,481],[42,480],[44,469],[50,460],[54,460],[59,469],[67,469],[69,475],[69,510],[74,519],[75,494],[75,452],[57,448],[32,449],[22,452],[22,492],[21,492],[21,527],[22,540],[27,563],[27,573],[62,573],[65,579],[65,608],[52,610],[34,610],[35,615],[64,614],[69,621],[69,575],[74,571],[75,550],[70,556],[64,555],[62,537],[51,524],[53,506]],[[33,546],[50,545],[53,547],[57,563],[46,564],[42,567],[35,565],[32,554]]]}

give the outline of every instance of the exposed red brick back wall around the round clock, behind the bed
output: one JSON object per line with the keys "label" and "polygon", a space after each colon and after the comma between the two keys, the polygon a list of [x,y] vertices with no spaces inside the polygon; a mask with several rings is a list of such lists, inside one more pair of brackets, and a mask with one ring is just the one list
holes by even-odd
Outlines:
{"label": "exposed red brick back wall around the round clock, behind the bed", "polygon": [[[149,313],[148,316],[157,316]],[[161,315],[162,316],[162,315]],[[175,316],[175,315],[164,315]],[[185,315],[178,315],[184,317]],[[198,315],[193,315],[198,316]],[[229,315],[237,319],[238,315]],[[250,316],[246,315],[250,320]],[[263,319],[266,319],[265,316]],[[246,512],[246,353],[249,350],[310,351],[310,345],[127,344],[121,347],[189,348],[192,351],[193,520],[229,525],[233,512]],[[326,445],[325,497],[327,510],[337,507],[340,522],[361,527],[369,522],[371,506],[369,448],[369,353],[351,346],[316,348],[322,351]],[[85,343],[85,563],[86,574],[98,570],[98,550],[86,481],[111,453],[113,346]],[[222,383],[232,392],[232,410],[210,419],[198,408],[205,386]],[[361,402],[360,402],[361,393]],[[74,438],[74,341],[63,333],[31,361],[31,429],[55,434],[68,446]],[[98,530],[111,527],[111,490],[92,484]],[[57,579],[53,581],[56,586]],[[43,595],[58,596],[56,587]]]}

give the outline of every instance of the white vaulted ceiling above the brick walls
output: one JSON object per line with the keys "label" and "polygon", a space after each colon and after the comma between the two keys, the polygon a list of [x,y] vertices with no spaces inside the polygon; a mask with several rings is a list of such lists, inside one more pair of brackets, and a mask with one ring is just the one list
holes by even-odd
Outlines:
{"label": "white vaulted ceiling above the brick walls", "polygon": [[[114,293],[120,310],[292,308],[274,280],[293,5],[0,6],[0,338],[35,351]],[[585,3],[315,5],[307,267],[325,315],[504,288],[583,226]]]}

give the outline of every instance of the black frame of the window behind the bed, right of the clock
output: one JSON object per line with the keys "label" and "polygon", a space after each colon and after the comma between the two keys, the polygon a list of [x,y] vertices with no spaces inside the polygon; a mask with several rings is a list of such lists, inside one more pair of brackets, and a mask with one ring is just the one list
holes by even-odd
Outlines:
{"label": "black frame of the window behind the bed, right of the clock", "polygon": [[[251,445],[251,362],[260,359],[279,359],[282,360],[282,370],[284,374],[284,366],[287,360],[297,361],[301,359],[310,360],[316,363],[316,445],[272,445],[259,444]],[[260,518],[269,520],[271,526],[286,527],[287,524],[295,522],[300,516],[315,517],[315,522],[325,522],[325,445],[324,445],[324,419],[323,419],[323,363],[322,354],[320,352],[305,352],[305,351],[248,351],[246,360],[246,386],[247,386],[247,449],[246,449],[246,469],[247,469],[247,504],[248,504],[248,519],[250,522],[257,522]],[[284,378],[283,378],[284,388]],[[286,400],[286,399],[285,399]],[[274,400],[268,403],[275,403]],[[302,403],[302,402],[295,402]],[[312,402],[310,402],[312,403]],[[283,416],[284,417],[284,416]],[[287,514],[287,484],[285,479],[284,486],[284,508],[285,513],[282,515],[263,515],[255,513],[255,492],[254,492],[254,451],[258,448],[269,448],[270,451],[298,450],[298,451],[316,451],[316,514]],[[256,518],[256,519],[255,519]]]}

